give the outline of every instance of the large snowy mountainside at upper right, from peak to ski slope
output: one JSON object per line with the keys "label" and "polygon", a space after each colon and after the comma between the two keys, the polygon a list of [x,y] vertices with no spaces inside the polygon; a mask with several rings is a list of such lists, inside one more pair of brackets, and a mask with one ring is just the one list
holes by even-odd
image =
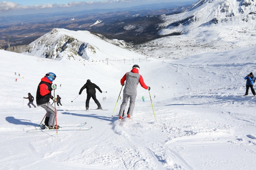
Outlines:
{"label": "large snowy mountainside at upper right, from peak to ski slope", "polygon": [[179,59],[206,51],[223,51],[256,45],[256,1],[200,0],[183,13],[163,16],[163,37],[140,50],[155,58]]}

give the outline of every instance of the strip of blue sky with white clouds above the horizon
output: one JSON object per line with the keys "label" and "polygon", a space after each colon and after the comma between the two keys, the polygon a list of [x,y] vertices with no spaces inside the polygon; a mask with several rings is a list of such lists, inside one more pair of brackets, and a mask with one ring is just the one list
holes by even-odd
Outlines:
{"label": "strip of blue sky with white clouds above the horizon", "polygon": [[10,0],[0,1],[0,16],[20,15],[28,13],[49,13],[58,11],[80,11],[91,9],[111,9],[120,7],[132,7],[142,4],[161,2],[184,2],[197,0]]}

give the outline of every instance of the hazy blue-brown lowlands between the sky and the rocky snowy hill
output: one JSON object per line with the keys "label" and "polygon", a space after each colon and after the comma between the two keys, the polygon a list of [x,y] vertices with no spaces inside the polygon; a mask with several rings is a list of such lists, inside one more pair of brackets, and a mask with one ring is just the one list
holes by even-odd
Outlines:
{"label": "hazy blue-brown lowlands between the sky and the rocky snowy hill", "polygon": [[[7,36],[11,46],[25,45],[41,37],[54,28],[65,28],[69,30],[93,30],[112,22],[130,19],[137,22],[137,17],[158,16],[161,14],[178,13],[188,7],[192,2],[183,3],[159,3],[140,5],[129,8],[118,9],[94,9],[76,12],[40,13],[21,16],[0,17],[0,46],[8,47]],[[101,21],[97,23],[97,21]],[[160,21],[157,21],[160,22]],[[97,23],[97,24],[96,24]],[[106,32],[108,29],[103,28]],[[101,31],[101,30],[100,30]]]}

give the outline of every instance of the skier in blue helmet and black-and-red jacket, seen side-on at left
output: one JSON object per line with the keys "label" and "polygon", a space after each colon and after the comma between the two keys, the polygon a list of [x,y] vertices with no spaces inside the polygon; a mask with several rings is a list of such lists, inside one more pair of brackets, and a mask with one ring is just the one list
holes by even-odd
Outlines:
{"label": "skier in blue helmet and black-and-red jacket, seen side-on at left", "polygon": [[[36,92],[36,104],[37,106],[41,106],[46,110],[46,116],[44,120],[44,124],[49,129],[56,129],[56,117],[55,117],[55,107],[50,104],[50,98],[53,99],[51,95],[51,91],[56,89],[56,84],[52,85],[53,80],[55,80],[56,75],[52,72],[47,73],[38,84],[37,92]],[[54,99],[55,100],[55,99]],[[57,110],[56,110],[57,116]],[[57,126],[59,129],[59,125]]]}

